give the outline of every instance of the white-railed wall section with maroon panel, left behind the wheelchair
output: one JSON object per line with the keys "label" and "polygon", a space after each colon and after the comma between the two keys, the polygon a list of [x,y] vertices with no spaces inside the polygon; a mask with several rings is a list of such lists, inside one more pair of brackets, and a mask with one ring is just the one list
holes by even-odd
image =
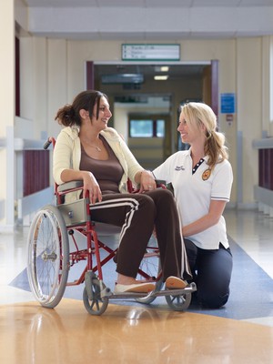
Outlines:
{"label": "white-railed wall section with maroon panel, left behind the wheelchair", "polygon": [[14,137],[13,127],[7,128],[6,139],[0,139],[0,149],[6,148],[6,178],[10,187],[5,201],[8,226],[20,223],[52,200],[50,155],[44,143],[45,140]]}

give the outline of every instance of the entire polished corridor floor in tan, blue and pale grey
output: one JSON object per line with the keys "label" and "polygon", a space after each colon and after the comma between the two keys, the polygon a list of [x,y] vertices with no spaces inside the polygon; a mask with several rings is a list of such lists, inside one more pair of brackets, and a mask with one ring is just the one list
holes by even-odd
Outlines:
{"label": "entire polished corridor floor in tan, blue and pale grey", "polygon": [[[66,288],[56,308],[42,308],[25,285],[27,228],[0,234],[0,362],[272,363],[273,218],[225,216],[234,273],[230,299],[218,310],[193,303],[176,312],[158,298],[149,306],[113,301],[94,317],[81,286]],[[111,281],[115,272],[106,276]]]}

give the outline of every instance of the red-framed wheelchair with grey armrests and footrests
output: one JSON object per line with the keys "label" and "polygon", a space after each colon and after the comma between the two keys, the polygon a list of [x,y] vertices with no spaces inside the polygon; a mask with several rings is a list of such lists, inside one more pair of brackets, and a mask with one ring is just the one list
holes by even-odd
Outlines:
{"label": "red-framed wheelchair with grey armrests and footrests", "polygon": [[[44,148],[55,146],[55,139],[48,138]],[[55,186],[56,205],[42,207],[32,220],[27,238],[27,277],[35,299],[45,308],[55,308],[67,286],[84,284],[83,301],[87,312],[101,315],[110,299],[135,299],[150,304],[164,296],[173,310],[186,310],[195,283],[183,289],[162,290],[163,281],[157,244],[149,243],[136,278],[155,283],[155,289],[147,293],[126,292],[114,294],[103,280],[103,267],[116,257],[118,248],[110,248],[100,240],[96,222],[92,221],[89,199],[65,203],[67,193],[82,190],[82,181]],[[81,241],[85,246],[81,247]],[[83,262],[80,276],[69,281],[71,270]],[[78,270],[78,269],[77,269]]]}

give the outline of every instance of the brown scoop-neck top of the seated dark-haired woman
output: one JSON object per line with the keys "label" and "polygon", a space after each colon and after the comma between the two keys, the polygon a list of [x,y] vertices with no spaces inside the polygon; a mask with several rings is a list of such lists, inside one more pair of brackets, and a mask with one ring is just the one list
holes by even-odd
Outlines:
{"label": "brown scoop-neck top of the seated dark-haired woman", "polygon": [[120,193],[118,185],[124,173],[123,168],[116,158],[112,148],[106,142],[106,139],[103,136],[100,136],[100,139],[106,147],[108,159],[100,160],[89,157],[86,154],[84,147],[81,145],[82,155],[80,170],[87,170],[93,173],[103,195],[109,193]]}

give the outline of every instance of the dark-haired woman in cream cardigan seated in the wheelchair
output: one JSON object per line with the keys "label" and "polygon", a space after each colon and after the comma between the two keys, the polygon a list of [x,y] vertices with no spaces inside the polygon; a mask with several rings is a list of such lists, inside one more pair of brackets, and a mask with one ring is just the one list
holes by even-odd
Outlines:
{"label": "dark-haired woman in cream cardigan seated in the wheelchair", "polygon": [[[82,180],[92,220],[121,227],[115,293],[155,289],[153,283],[136,280],[154,228],[166,288],[185,288],[190,273],[173,195],[157,188],[152,173],[137,163],[123,138],[107,126],[111,116],[107,96],[94,90],[81,92],[71,105],[57,111],[56,120],[65,127],[56,138],[55,181],[60,185]],[[127,191],[128,178],[139,188],[137,193]],[[66,202],[79,195],[79,191],[69,193]]]}

